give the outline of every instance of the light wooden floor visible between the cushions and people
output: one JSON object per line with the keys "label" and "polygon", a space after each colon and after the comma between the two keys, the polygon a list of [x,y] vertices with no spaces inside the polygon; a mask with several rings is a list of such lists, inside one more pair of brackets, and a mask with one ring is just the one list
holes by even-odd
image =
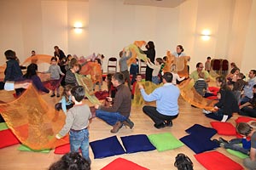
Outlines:
{"label": "light wooden floor visible between the cushions and people", "polygon": [[[10,93],[1,92],[1,99],[5,95]],[[44,94],[43,98],[49,103],[49,105],[54,105],[59,101],[59,98],[50,98],[49,94]],[[89,102],[88,102],[89,103]],[[132,107],[131,111],[131,120],[135,123],[133,129],[122,127],[119,130],[119,133],[116,135],[119,137],[132,135],[132,134],[153,134],[153,133],[172,133],[177,139],[182,138],[187,135],[185,129],[193,126],[195,123],[201,124],[206,127],[211,127],[211,119],[204,116],[201,112],[201,109],[193,108],[180,97],[178,99],[180,113],[177,116],[177,119],[173,121],[173,127],[166,127],[162,129],[156,129],[153,126],[153,122],[145,116],[141,107],[135,108]],[[237,115],[231,117],[229,122],[235,125],[235,120]],[[98,118],[94,118],[90,123],[90,141],[95,141],[97,139],[105,139],[110,136],[113,136],[113,133],[110,133],[112,127],[108,126],[105,122],[102,122]],[[212,139],[218,139],[219,135],[213,136]],[[231,139],[230,136],[224,136],[224,139]],[[0,139],[1,142],[1,139]],[[51,163],[60,159],[61,155],[55,155],[54,150],[51,150],[48,154],[44,153],[35,153],[35,152],[26,152],[17,150],[19,144],[9,146],[0,150],[0,170],[38,170],[38,169],[47,169]],[[218,151],[224,153],[224,155],[229,156],[232,160],[241,164],[242,160],[236,156],[231,156],[223,148],[218,148]],[[91,169],[98,170],[102,167],[108,165],[109,162],[113,161],[118,157],[125,158],[130,161],[134,161],[137,164],[147,167],[148,169],[177,169],[173,166],[175,161],[175,156],[178,153],[184,153],[193,161],[195,170],[206,169],[202,167],[201,164],[195,160],[195,153],[193,150],[190,150],[189,147],[184,145],[183,147],[177,148],[175,150],[168,150],[163,152],[158,152],[157,150],[148,151],[148,152],[139,152],[134,154],[125,154],[120,156],[112,156],[103,159],[93,159],[93,153],[90,150],[91,158]]]}

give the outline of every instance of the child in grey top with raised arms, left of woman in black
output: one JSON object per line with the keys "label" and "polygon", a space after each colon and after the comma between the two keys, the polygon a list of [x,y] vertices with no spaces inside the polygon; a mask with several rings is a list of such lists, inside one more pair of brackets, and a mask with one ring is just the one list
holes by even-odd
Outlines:
{"label": "child in grey top with raised arms, left of woman in black", "polygon": [[125,51],[125,48],[123,49],[123,51],[119,52],[120,71],[125,76],[125,81],[128,82],[128,88],[130,88],[130,90],[131,90],[131,79],[128,71],[127,60],[131,58],[131,55],[132,55],[131,51]]}

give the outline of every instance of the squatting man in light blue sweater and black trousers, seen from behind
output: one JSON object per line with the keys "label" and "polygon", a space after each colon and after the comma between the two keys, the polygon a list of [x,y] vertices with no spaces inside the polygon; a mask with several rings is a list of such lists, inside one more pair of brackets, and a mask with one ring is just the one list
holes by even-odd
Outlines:
{"label": "squatting man in light blue sweater and black trousers, seen from behind", "polygon": [[164,85],[154,89],[152,94],[146,94],[143,85],[139,85],[145,101],[156,101],[156,107],[145,105],[143,112],[154,122],[154,127],[172,127],[172,119],[178,115],[177,99],[179,88],[172,84],[172,73],[166,72],[163,76]]}

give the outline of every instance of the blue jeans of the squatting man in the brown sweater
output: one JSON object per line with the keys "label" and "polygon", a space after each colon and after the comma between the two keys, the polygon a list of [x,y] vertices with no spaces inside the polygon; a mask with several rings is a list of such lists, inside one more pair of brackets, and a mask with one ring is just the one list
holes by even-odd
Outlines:
{"label": "blue jeans of the squatting man in the brown sweater", "polygon": [[109,125],[113,126],[116,122],[124,122],[128,117],[121,115],[119,112],[108,112],[102,110],[96,110],[96,117],[107,122]]}

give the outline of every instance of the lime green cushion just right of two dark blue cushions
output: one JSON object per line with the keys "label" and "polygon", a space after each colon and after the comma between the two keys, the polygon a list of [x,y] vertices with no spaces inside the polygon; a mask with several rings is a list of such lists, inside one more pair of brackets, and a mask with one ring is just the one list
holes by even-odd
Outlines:
{"label": "lime green cushion just right of two dark blue cushions", "polygon": [[184,145],[171,133],[150,134],[148,139],[158,151],[173,150]]}

